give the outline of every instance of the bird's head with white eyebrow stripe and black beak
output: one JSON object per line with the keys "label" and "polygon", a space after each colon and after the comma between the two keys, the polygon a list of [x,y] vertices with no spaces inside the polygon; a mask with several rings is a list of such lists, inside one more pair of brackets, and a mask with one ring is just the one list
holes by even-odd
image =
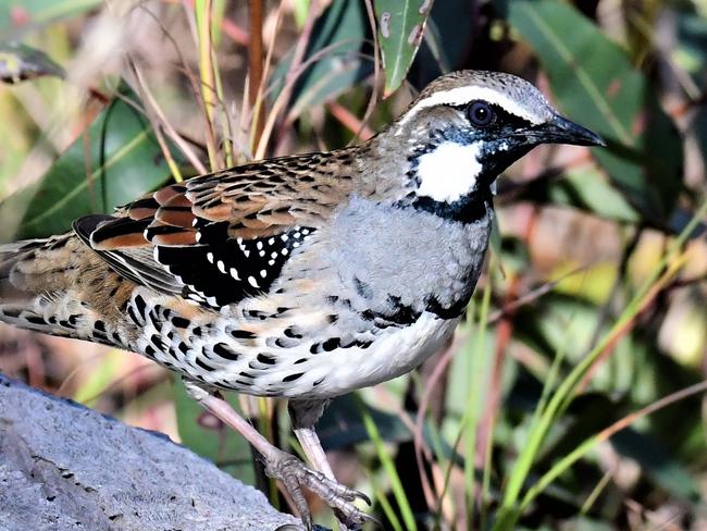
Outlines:
{"label": "bird's head with white eyebrow stripe and black beak", "polygon": [[432,82],[384,132],[386,149],[406,144],[407,183],[426,209],[463,209],[539,144],[604,146],[561,116],[520,77],[462,71]]}

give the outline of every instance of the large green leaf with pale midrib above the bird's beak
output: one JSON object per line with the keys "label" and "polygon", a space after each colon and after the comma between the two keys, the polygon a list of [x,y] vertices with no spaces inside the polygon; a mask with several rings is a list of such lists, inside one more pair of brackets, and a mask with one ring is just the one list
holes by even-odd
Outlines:
{"label": "large green leaf with pale midrib above the bird's beak", "polygon": [[601,134],[593,150],[629,202],[662,224],[682,187],[682,143],[643,74],[574,8],[556,0],[508,3],[509,22],[537,52],[572,120]]}

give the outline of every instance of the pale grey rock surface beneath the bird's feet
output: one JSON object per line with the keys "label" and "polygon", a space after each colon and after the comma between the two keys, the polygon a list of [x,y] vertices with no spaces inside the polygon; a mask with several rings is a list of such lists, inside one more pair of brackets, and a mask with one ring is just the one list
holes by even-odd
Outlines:
{"label": "pale grey rock surface beneath the bird's feet", "polygon": [[274,531],[298,522],[164,435],[0,374],[0,531]]}

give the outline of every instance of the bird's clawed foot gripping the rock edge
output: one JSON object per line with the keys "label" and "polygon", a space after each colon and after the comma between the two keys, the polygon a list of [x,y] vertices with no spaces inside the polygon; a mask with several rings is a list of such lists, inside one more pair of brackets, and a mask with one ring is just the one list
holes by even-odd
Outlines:
{"label": "bird's clawed foot gripping the rock edge", "polygon": [[312,470],[295,456],[278,450],[278,454],[269,459],[265,465],[265,473],[282,481],[308,530],[312,529],[312,516],[302,487],[322,498],[348,529],[359,529],[367,521],[379,523],[375,518],[354,505],[357,499],[371,505],[371,499],[365,494]]}

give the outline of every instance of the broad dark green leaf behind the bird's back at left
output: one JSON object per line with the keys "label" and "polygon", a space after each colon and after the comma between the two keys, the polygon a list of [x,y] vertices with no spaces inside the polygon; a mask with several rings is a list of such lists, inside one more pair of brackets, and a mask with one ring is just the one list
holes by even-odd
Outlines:
{"label": "broad dark green leaf behind the bird's back at left", "polygon": [[[134,97],[128,89],[121,91],[124,98]],[[150,123],[117,98],[38,183],[0,205],[0,221],[7,230],[18,218],[18,238],[58,234],[82,215],[112,212],[169,176]]]}

